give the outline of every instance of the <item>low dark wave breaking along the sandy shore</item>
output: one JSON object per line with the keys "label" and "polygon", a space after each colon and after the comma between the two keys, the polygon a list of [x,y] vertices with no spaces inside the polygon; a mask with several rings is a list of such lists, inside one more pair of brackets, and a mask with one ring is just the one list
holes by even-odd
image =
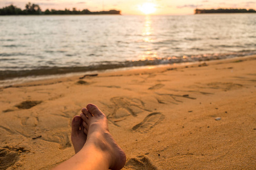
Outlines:
{"label": "low dark wave breaking along the sandy shore", "polygon": [[[100,71],[119,69],[123,67],[138,67],[138,66],[152,66],[152,65],[166,65],[182,62],[196,62],[196,61],[209,61],[214,59],[225,59],[233,57],[242,57],[256,54],[256,50],[241,50],[234,53],[221,53],[221,54],[199,54],[191,56],[172,56],[166,58],[146,58],[138,61],[101,61],[94,62],[89,66],[72,66],[72,67],[49,67],[43,66],[38,68],[23,68],[26,70],[0,70],[0,80],[12,79],[25,76],[43,76],[43,75],[55,75],[55,74],[67,74],[78,73],[86,71]],[[51,63],[48,63],[49,65]]]}

